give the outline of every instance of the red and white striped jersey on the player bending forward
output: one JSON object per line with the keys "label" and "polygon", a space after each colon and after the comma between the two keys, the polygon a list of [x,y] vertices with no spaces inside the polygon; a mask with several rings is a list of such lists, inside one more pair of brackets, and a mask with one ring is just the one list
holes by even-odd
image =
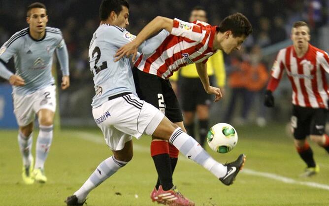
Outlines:
{"label": "red and white striped jersey on the player bending forward", "polygon": [[134,66],[146,73],[164,79],[181,67],[194,63],[206,63],[217,50],[212,49],[216,26],[196,21],[188,23],[173,20],[171,34],[151,54],[142,54]]}

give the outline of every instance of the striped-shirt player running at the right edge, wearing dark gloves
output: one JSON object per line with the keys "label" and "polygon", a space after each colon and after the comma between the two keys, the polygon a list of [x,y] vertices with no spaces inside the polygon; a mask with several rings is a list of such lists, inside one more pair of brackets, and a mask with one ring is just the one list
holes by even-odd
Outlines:
{"label": "striped-shirt player running at the right edge, wearing dark gloves", "polygon": [[329,152],[329,137],[325,134],[329,91],[326,72],[329,73],[329,56],[309,44],[310,30],[305,22],[295,22],[291,38],[293,45],[281,49],[272,68],[272,77],[265,94],[265,106],[274,106],[272,92],[286,70],[293,87],[293,116],[295,146],[307,164],[303,176],[319,172],[306,136]]}

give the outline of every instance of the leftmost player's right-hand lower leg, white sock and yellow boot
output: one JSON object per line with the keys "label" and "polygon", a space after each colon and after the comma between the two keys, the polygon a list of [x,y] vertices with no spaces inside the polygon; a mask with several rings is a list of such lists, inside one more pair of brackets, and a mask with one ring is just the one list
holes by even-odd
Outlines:
{"label": "leftmost player's right-hand lower leg, white sock and yellow boot", "polygon": [[35,154],[35,165],[32,172],[32,176],[35,181],[39,183],[47,182],[47,177],[44,172],[44,163],[48,157],[50,145],[53,139],[53,125],[50,126],[39,126],[39,135],[36,140],[36,154]]}

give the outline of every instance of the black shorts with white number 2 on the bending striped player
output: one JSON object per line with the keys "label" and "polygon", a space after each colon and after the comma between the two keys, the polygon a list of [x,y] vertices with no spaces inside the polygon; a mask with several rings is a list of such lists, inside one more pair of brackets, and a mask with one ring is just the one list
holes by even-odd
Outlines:
{"label": "black shorts with white number 2 on the bending striped player", "polygon": [[141,100],[162,111],[171,122],[182,122],[183,115],[169,80],[132,68],[136,93]]}

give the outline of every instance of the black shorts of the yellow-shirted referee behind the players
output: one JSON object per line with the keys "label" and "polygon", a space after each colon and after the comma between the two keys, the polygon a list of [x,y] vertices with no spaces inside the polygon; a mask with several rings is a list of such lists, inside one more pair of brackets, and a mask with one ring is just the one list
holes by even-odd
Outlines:
{"label": "black shorts of the yellow-shirted referee behind the players", "polygon": [[[214,81],[214,76],[209,76],[209,82]],[[183,111],[195,111],[197,105],[208,105],[212,102],[212,95],[204,91],[199,78],[179,77],[180,94]]]}

